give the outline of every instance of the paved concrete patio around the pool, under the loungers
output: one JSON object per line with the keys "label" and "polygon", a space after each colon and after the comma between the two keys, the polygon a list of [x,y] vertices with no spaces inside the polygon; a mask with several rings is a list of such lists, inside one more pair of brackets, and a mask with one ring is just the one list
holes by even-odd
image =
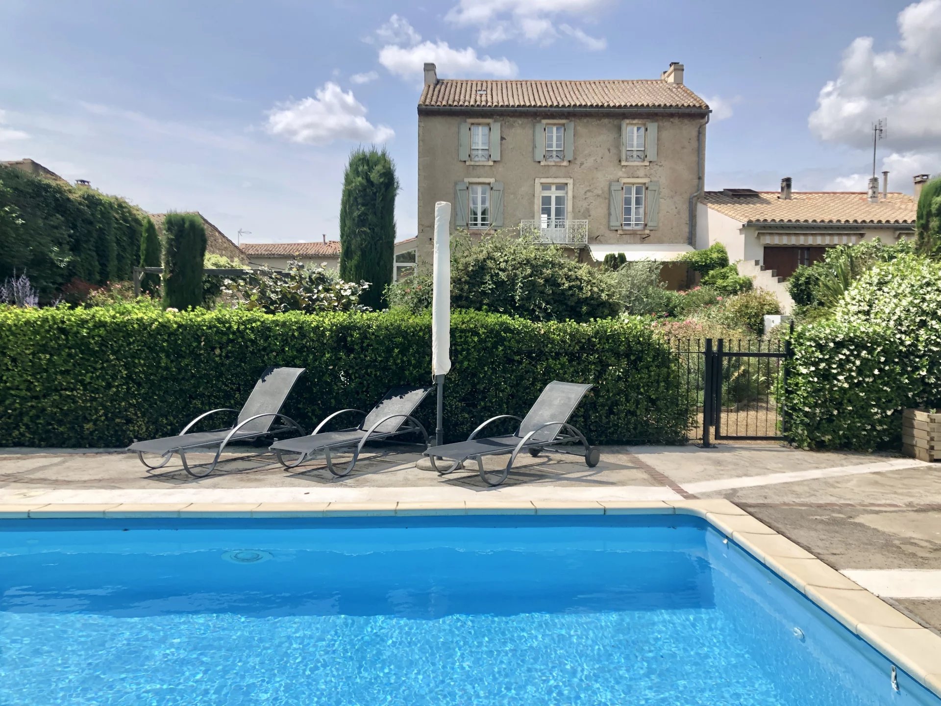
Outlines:
{"label": "paved concrete patio around the pool, under the loungers", "polygon": [[526,457],[489,489],[475,468],[445,478],[417,468],[414,447],[377,447],[344,478],[316,460],[287,472],[273,457],[232,454],[201,479],[179,465],[148,473],[115,450],[5,449],[0,504],[726,498],[941,633],[941,464],[772,444],[608,446],[601,458],[589,469]]}

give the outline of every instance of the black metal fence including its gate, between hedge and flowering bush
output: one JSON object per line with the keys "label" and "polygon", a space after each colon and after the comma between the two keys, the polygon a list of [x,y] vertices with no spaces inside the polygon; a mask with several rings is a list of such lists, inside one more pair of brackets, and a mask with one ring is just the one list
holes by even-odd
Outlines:
{"label": "black metal fence including its gate, between hedge and flowering bush", "polygon": [[679,365],[680,400],[692,410],[687,441],[784,438],[781,402],[789,341],[671,339]]}

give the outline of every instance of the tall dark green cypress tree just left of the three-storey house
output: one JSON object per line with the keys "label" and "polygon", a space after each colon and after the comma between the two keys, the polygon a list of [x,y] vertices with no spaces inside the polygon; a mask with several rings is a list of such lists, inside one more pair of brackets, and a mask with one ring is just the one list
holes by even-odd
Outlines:
{"label": "tall dark green cypress tree just left of the three-storey house", "polygon": [[340,202],[340,277],[368,281],[359,302],[386,305],[395,257],[395,195],[399,180],[389,152],[375,147],[350,153]]}

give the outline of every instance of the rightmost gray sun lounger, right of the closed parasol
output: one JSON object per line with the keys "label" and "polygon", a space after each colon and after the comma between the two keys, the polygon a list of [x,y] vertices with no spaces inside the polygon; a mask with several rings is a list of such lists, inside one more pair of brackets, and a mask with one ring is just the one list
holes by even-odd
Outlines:
{"label": "rightmost gray sun lounger, right of the closed parasol", "polygon": [[[506,479],[518,453],[523,449],[536,456],[546,446],[579,441],[584,449],[586,465],[589,467],[596,466],[599,459],[598,449],[589,446],[582,432],[568,424],[568,418],[571,417],[572,412],[582,402],[582,397],[591,388],[591,385],[553,380],[539,395],[533,407],[526,414],[525,419],[520,421],[515,434],[488,439],[475,438],[476,434],[490,422],[507,416],[501,415],[488,419],[484,424],[478,426],[470,434],[467,441],[432,446],[424,451],[424,456],[431,459],[432,467],[436,470],[438,470],[435,465],[436,458],[447,458],[455,461],[449,469],[439,470],[441,475],[452,473],[462,461],[468,458],[476,458],[480,476],[490,486],[498,486]],[[552,450],[560,453],[570,453],[558,448]],[[485,470],[484,463],[481,460],[482,457],[503,454],[510,454],[510,460],[504,469],[501,471]]]}

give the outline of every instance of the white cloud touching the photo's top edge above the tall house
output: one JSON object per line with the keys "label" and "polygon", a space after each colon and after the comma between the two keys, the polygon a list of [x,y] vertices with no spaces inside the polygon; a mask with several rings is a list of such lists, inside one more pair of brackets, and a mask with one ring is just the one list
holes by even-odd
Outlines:
{"label": "white cloud touching the photo's top edge above the tall house", "polygon": [[[608,4],[610,0],[458,0],[444,19],[458,26],[477,27],[481,46],[514,39],[548,44],[560,37],[555,17],[572,15],[582,19]],[[599,42],[605,40],[589,37],[581,29],[560,29],[589,49],[604,48]]]}

